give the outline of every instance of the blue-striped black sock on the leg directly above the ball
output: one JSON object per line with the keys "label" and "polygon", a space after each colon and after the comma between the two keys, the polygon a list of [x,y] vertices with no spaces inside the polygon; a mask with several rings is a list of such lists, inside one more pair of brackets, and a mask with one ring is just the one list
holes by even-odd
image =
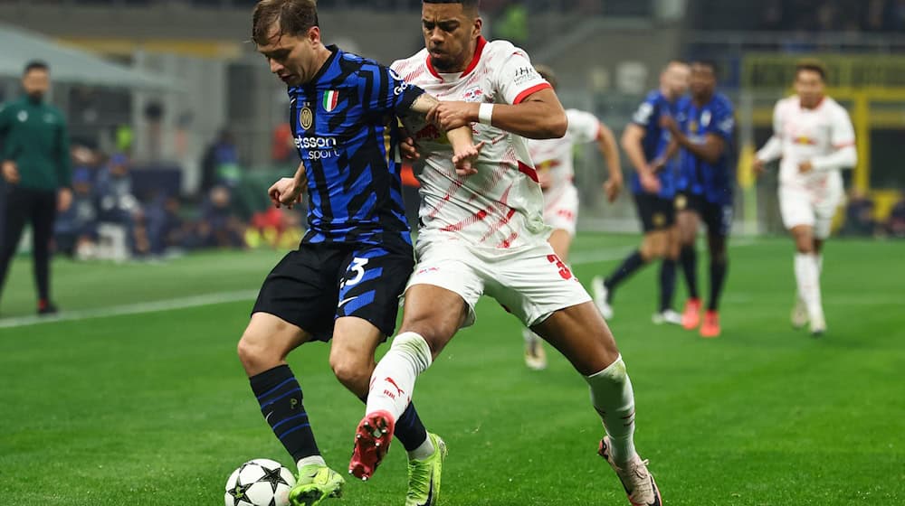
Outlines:
{"label": "blue-striped black sock on the leg directly above the ball", "polygon": [[288,365],[265,370],[249,379],[261,413],[273,434],[292,455],[293,463],[319,455],[318,444],[301,403],[301,387]]}

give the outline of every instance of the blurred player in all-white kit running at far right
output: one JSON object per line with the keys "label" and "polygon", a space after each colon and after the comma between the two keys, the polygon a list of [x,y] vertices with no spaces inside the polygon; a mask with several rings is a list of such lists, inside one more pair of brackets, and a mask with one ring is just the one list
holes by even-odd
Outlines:
{"label": "blurred player in all-white kit running at far right", "polygon": [[773,136],[757,152],[754,169],[779,164],[779,211],[795,239],[798,294],[792,323],[810,322],[815,336],[826,332],[821,304],[821,250],[833,215],[843,200],[842,169],[858,163],[848,111],[824,95],[826,71],[819,61],[795,68],[795,95],[776,103]]}

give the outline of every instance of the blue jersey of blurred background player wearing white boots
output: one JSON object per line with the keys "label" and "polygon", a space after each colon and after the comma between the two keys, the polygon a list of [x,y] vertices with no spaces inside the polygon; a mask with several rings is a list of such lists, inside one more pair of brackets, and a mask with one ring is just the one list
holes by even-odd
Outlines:
{"label": "blue jersey of blurred background player wearing white boots", "polygon": [[[634,112],[632,123],[644,129],[642,146],[644,158],[647,159],[648,164],[666,151],[666,147],[672,139],[670,131],[660,126],[660,118],[663,116],[676,117],[677,112],[678,101],[670,102],[660,90],[650,92],[647,98],[644,98],[644,101],[638,106],[638,110]],[[675,170],[674,161],[668,160],[666,166],[657,173],[661,187],[660,192],[657,194],[659,197],[672,199],[675,196]],[[631,187],[635,195],[644,192],[641,186],[641,178],[638,176],[637,171],[632,173]]]}

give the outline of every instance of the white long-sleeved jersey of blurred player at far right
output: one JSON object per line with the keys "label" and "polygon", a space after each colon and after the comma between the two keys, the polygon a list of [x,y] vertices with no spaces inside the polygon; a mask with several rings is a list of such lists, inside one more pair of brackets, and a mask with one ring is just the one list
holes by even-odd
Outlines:
{"label": "white long-sleeved jersey of blurred player at far right", "polygon": [[802,108],[797,95],[779,100],[773,110],[773,135],[779,137],[783,146],[780,183],[794,188],[842,190],[843,177],[838,169],[798,172],[801,162],[854,145],[848,111],[833,98],[824,97],[814,109]]}

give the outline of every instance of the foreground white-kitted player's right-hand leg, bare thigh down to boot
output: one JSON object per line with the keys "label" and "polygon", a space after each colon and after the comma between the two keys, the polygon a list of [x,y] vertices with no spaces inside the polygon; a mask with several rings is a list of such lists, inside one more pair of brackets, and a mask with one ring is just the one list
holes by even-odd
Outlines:
{"label": "foreground white-kitted player's right-hand leg, bare thigh down to boot", "polygon": [[585,378],[606,436],[598,453],[613,467],[632,504],[661,505],[653,476],[634,447],[634,393],[625,363],[603,318],[590,304],[573,305],[533,327]]}

